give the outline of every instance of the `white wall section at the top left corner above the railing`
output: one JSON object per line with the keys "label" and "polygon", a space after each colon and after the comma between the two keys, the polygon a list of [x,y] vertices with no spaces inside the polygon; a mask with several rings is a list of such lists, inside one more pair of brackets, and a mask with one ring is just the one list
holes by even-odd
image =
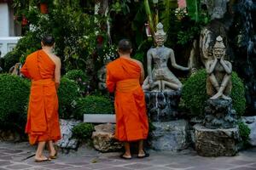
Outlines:
{"label": "white wall section at the top left corner above the railing", "polygon": [[0,3],[0,37],[9,37],[8,3]]}

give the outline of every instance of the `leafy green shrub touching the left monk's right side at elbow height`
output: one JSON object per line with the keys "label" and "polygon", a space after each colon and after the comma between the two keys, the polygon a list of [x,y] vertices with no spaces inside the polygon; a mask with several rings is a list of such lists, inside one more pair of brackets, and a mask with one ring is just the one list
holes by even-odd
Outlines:
{"label": "leafy green shrub touching the left monk's right side at elbow height", "polygon": [[58,89],[61,118],[67,119],[73,116],[74,105],[79,96],[79,86],[77,83],[67,78],[61,78],[61,85]]}

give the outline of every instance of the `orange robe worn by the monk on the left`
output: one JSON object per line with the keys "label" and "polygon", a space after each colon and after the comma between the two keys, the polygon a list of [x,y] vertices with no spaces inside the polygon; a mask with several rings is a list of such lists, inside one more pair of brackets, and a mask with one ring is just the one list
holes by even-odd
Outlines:
{"label": "orange robe worn by the monk on the left", "polygon": [[38,50],[27,56],[21,73],[32,80],[26,122],[30,144],[61,139],[55,63],[43,50]]}

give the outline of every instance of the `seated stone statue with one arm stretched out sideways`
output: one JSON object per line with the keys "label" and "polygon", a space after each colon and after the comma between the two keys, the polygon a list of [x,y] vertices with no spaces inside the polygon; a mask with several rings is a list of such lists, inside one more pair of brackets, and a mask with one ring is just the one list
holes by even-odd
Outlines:
{"label": "seated stone statue with one arm stretched out sideways", "polygon": [[[172,66],[182,71],[189,71],[188,67],[177,65],[172,48],[166,48],[166,32],[163,25],[159,23],[157,31],[154,33],[154,41],[156,48],[148,50],[148,77],[143,82],[144,91],[170,91],[178,90],[182,87],[182,83],[172,74],[167,66],[168,59],[171,59]],[[154,68],[152,70],[152,60]]]}

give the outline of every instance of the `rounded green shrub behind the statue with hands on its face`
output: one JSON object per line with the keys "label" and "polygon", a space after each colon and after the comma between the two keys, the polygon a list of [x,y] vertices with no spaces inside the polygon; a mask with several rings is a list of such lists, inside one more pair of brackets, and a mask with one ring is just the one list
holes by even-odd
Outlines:
{"label": "rounded green shrub behind the statue with hands on its face", "polygon": [[[236,72],[232,72],[232,91],[230,94],[232,104],[238,116],[241,116],[246,109],[245,90],[241,79]],[[203,116],[207,96],[207,72],[200,70],[183,85],[182,98],[185,106],[194,116]]]}

